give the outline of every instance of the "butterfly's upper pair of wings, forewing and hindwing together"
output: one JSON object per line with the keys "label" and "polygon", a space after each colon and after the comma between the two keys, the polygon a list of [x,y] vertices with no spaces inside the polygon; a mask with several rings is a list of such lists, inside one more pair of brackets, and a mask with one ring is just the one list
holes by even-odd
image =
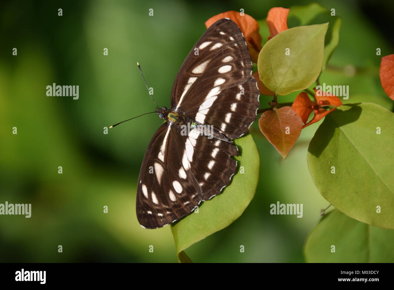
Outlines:
{"label": "butterfly's upper pair of wings, forewing and hindwing together", "polygon": [[182,64],[171,105],[231,139],[238,138],[255,121],[259,107],[260,93],[251,73],[240,28],[230,19],[221,19],[206,30]]}

